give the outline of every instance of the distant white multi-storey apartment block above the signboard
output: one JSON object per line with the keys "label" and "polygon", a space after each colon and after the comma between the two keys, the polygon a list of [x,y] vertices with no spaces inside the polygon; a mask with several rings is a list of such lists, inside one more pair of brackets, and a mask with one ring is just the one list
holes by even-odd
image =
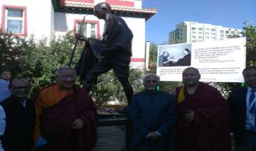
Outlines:
{"label": "distant white multi-storey apartment block above the signboard", "polygon": [[205,40],[224,40],[230,35],[241,35],[240,29],[225,28],[208,23],[183,21],[169,33],[170,43],[194,43]]}

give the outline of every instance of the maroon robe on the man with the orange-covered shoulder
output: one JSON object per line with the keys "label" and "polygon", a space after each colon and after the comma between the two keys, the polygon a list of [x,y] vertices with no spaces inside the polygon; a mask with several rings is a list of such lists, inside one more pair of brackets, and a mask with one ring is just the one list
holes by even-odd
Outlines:
{"label": "maroon robe on the man with the orange-covered shoulder", "polygon": [[[76,119],[85,125],[80,130],[72,128]],[[88,151],[95,147],[97,111],[90,96],[75,86],[73,94],[43,110],[41,135],[48,143],[40,151]]]}

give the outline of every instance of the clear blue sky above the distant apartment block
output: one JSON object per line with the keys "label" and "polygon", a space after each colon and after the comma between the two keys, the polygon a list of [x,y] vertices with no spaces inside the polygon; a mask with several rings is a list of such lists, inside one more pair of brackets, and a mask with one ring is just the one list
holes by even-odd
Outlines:
{"label": "clear blue sky above the distant apartment block", "polygon": [[144,9],[157,8],[146,21],[146,41],[168,42],[178,23],[194,21],[242,29],[244,22],[256,26],[256,0],[142,0]]}

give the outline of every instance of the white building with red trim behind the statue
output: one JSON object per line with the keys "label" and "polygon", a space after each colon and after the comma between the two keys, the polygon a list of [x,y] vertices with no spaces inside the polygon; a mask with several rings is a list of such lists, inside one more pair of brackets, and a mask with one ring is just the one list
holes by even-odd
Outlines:
{"label": "white building with red trim behind the statue", "polygon": [[18,36],[31,34],[36,39],[63,35],[77,30],[85,16],[87,37],[100,38],[104,21],[92,15],[93,7],[102,1],[112,6],[112,12],[122,16],[134,34],[132,67],[144,67],[145,22],[156,9],[142,9],[142,0],[0,0],[1,30]]}

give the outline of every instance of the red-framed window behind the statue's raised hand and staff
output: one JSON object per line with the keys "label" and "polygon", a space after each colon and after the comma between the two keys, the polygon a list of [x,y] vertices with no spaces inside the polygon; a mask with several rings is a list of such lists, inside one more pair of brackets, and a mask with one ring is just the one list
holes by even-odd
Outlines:
{"label": "red-framed window behind the statue's raised hand and staff", "polygon": [[82,35],[86,38],[100,38],[99,21],[85,21],[82,25],[81,20],[75,20],[75,33],[79,33],[82,25]]}

